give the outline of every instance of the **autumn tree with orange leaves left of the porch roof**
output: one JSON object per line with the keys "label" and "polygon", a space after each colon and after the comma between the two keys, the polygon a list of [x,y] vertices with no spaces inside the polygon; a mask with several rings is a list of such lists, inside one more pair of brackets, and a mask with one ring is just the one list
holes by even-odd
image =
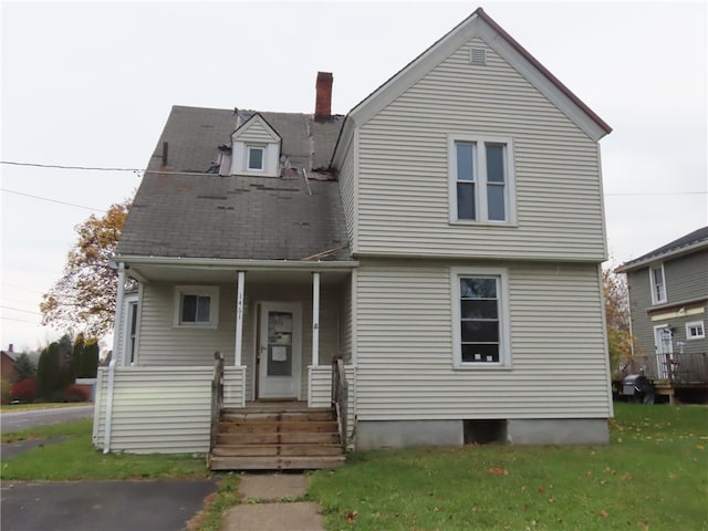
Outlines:
{"label": "autumn tree with orange leaves left of the porch roof", "polygon": [[91,215],[76,226],[79,239],[66,257],[64,273],[42,295],[42,324],[79,330],[101,337],[113,329],[117,272],[110,260],[121,238],[131,200],[112,205],[102,217]]}

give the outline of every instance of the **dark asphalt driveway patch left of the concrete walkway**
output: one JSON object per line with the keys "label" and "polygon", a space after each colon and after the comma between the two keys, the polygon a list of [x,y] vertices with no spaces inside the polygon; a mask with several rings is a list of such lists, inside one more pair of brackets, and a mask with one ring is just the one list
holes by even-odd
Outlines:
{"label": "dark asphalt driveway patch left of the concrete walkway", "polygon": [[7,531],[179,531],[218,489],[199,481],[3,481]]}

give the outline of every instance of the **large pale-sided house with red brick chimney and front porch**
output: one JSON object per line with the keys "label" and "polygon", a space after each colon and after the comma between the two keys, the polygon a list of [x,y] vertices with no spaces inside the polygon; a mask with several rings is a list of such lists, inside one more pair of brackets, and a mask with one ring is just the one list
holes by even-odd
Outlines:
{"label": "large pale-sided house with red brick chimney and front porch", "polygon": [[330,407],[342,357],[357,449],[606,442],[611,128],[481,9],[346,116],[331,91],[173,107],[114,258],[138,291],[94,444],[208,451],[216,351],[240,412]]}

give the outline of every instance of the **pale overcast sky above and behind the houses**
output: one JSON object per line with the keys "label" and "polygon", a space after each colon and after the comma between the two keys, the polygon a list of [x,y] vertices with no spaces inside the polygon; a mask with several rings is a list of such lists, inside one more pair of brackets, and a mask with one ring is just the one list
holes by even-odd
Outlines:
{"label": "pale overcast sky above and behind the houses", "polygon": [[[614,128],[615,263],[708,225],[702,1],[3,1],[1,159],[144,168],[173,105],[312,112],[317,71],[345,114],[479,6]],[[35,348],[59,335],[38,306],[74,227],[140,175],[0,170],[0,346]]]}

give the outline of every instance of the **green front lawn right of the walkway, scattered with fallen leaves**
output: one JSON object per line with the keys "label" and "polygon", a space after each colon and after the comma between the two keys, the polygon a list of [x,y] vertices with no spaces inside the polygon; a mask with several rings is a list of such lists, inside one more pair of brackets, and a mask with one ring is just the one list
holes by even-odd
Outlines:
{"label": "green front lawn right of the walkway, scattered with fallen leaves", "polygon": [[708,408],[615,415],[608,446],[352,454],[309,497],[330,530],[708,530]]}

